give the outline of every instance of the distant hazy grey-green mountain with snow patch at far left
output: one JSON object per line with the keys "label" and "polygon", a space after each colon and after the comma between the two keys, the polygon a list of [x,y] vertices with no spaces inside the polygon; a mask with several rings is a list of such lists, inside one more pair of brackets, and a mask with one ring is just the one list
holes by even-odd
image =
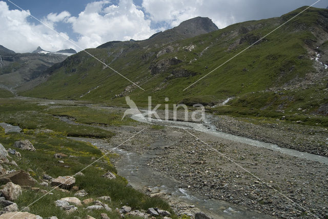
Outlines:
{"label": "distant hazy grey-green mountain with snow patch at far left", "polygon": [[44,82],[47,70],[67,55],[48,53],[38,47],[33,53],[15,53],[0,46],[0,89],[11,93],[23,91]]}

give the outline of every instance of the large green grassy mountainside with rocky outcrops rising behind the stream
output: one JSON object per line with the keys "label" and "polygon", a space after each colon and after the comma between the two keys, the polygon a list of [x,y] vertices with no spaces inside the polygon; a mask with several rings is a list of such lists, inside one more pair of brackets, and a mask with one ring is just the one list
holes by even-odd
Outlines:
{"label": "large green grassy mountainside with rocky outcrops rising behind the stream", "polygon": [[230,113],[328,115],[328,10],[310,8],[238,55],[304,9],[216,31],[208,18],[193,18],[147,40],[88,49],[145,91],[79,52],[54,65],[47,82],[20,94],[120,103],[129,95],[138,105],[147,105],[148,96],[153,103],[169,97],[170,103],[212,106],[233,97]]}

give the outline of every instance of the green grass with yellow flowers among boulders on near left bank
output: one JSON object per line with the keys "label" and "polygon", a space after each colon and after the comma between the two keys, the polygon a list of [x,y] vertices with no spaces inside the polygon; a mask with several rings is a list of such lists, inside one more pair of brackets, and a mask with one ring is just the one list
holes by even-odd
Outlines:
{"label": "green grass with yellow flowers among boulders on near left bank", "polygon": [[[79,115],[81,112],[87,111],[87,108],[77,108]],[[24,111],[24,109],[26,111]],[[58,176],[72,176],[74,173],[88,166],[93,160],[103,156],[103,153],[90,143],[68,139],[68,130],[75,126],[62,123],[60,120],[57,121],[57,119],[50,119],[53,118],[52,115],[43,113],[46,110],[45,106],[38,106],[25,101],[1,100],[0,110],[1,122],[8,122],[8,120],[14,118],[11,120],[12,122],[15,121],[16,124],[24,126],[22,133],[5,134],[4,129],[0,128],[0,142],[6,148],[13,148],[13,144],[17,140],[28,139],[32,142],[36,151],[17,149],[20,154],[22,154],[22,157],[18,158],[13,156],[13,160],[17,163],[19,168],[28,171],[38,182],[42,181],[44,173],[47,173],[54,178]],[[93,111],[91,112],[95,113]],[[92,121],[91,118],[89,118],[89,121],[91,123],[97,122],[98,117],[94,118],[94,121]],[[84,121],[86,117],[81,116],[79,119]],[[42,125],[39,126],[38,124]],[[79,126],[76,127],[77,129],[74,132],[79,134],[84,132],[83,128]],[[97,128],[93,128],[90,129],[90,132],[96,132],[97,130]],[[111,136],[112,134],[106,134],[107,138],[110,138]],[[64,161],[64,164],[58,163],[58,159],[54,158],[54,154],[58,152],[67,155],[67,157],[60,159]],[[150,198],[144,193],[127,186],[126,179],[120,176],[117,176],[115,180],[101,177],[107,171],[117,173],[116,169],[110,162],[111,156],[112,155],[107,155],[85,169],[83,171],[85,176],[76,177],[76,185],[80,189],[85,189],[89,193],[87,196],[80,198],[80,200],[87,198],[93,198],[96,200],[99,196],[109,195],[112,201],[102,202],[108,204],[112,209],[120,208],[123,205],[128,205],[131,206],[132,209],[139,210],[147,210],[149,207],[158,207],[160,209],[169,210],[173,214],[173,218],[177,218],[165,201],[159,198]],[[3,166],[7,169],[18,169],[9,164],[3,164]],[[50,187],[37,187],[48,191],[50,190]],[[55,206],[54,201],[66,196],[74,196],[74,193],[66,193],[60,190],[53,190],[52,193],[53,194],[48,194],[31,205],[30,212],[43,217],[53,215],[56,215],[58,218],[67,217],[62,210]],[[28,206],[32,201],[37,200],[42,195],[43,193],[41,192],[24,189],[23,194],[19,196],[16,203],[18,207]],[[115,210],[112,212],[106,212],[106,210],[87,211],[84,207],[86,206],[78,207],[78,210],[71,213],[69,217],[79,216],[84,218],[89,214],[95,218],[100,218],[100,213],[107,213],[110,218],[120,218],[120,215]]]}

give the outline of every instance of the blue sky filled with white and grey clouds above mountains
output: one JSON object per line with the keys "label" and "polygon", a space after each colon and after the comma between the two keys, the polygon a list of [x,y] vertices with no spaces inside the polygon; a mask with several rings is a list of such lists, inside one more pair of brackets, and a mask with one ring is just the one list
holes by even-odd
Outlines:
{"label": "blue sky filled with white and grey clouds above mountains", "polygon": [[[81,51],[113,40],[147,39],[196,16],[211,18],[221,29],[281,16],[316,1],[0,0],[0,45],[19,53],[32,52],[38,46],[47,51]],[[327,6],[328,0],[314,5]]]}

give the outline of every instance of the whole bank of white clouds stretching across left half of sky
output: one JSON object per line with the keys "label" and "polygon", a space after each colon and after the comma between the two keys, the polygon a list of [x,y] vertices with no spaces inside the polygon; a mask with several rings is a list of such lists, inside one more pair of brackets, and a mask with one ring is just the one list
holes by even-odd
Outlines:
{"label": "whole bank of white clouds stretching across left half of sky", "polygon": [[48,51],[68,48],[80,51],[112,40],[146,39],[157,32],[150,28],[151,20],[146,19],[132,0],[120,0],[118,5],[110,5],[109,1],[92,2],[77,17],[63,11],[41,19],[52,29],[60,23],[70,25],[73,32],[79,34],[73,41],[79,48],[66,40],[69,39],[66,33],[60,33],[63,38],[36,20],[35,24],[30,23],[28,17],[28,13],[9,10],[8,5],[0,1],[0,45],[15,52],[31,52],[38,46]]}

